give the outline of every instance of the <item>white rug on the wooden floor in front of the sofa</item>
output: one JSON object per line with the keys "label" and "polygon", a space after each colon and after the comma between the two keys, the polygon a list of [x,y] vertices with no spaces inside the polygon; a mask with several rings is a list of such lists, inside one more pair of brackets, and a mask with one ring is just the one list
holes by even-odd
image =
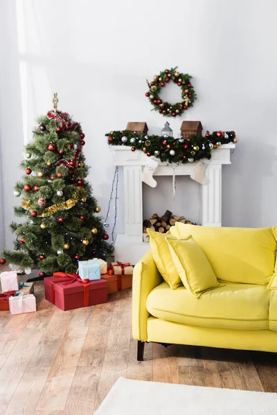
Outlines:
{"label": "white rug on the wooden floor in front of the sofa", "polygon": [[119,378],[96,415],[276,415],[277,394]]}

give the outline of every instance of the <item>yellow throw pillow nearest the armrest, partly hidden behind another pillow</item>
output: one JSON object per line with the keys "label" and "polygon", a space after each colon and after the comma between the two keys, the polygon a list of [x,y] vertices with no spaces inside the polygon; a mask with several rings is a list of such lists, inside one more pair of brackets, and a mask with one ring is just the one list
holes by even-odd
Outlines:
{"label": "yellow throw pillow nearest the armrest, partly hidden behind another pillow", "polygon": [[148,228],[148,234],[150,238],[150,250],[153,255],[156,266],[159,270],[159,273],[165,280],[165,282],[175,290],[175,288],[181,285],[181,279],[175,268],[172,256],[170,255],[170,250],[168,243],[166,242],[166,237],[168,239],[176,239],[170,233],[161,234],[160,232],[155,232],[154,230]]}

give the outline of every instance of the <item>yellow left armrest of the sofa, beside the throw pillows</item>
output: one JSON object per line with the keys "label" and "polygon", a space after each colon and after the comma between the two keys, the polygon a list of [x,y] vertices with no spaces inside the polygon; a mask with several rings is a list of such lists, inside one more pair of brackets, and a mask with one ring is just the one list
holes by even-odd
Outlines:
{"label": "yellow left armrest of the sofa, beside the throw pillows", "polygon": [[133,275],[133,302],[132,302],[132,331],[134,340],[147,341],[147,320],[149,313],[146,308],[146,299],[153,288],[163,281],[151,252],[134,267]]}

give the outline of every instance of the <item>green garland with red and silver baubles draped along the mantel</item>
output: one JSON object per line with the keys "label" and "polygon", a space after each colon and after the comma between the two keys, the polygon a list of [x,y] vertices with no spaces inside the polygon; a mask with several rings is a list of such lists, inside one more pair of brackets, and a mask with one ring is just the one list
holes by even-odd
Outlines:
{"label": "green garland with red and silver baubles draped along the mantel", "polygon": [[145,136],[145,133],[134,131],[110,131],[105,134],[109,145],[125,145],[132,151],[141,150],[148,157],[154,156],[168,163],[193,163],[202,158],[211,158],[212,149],[222,144],[238,142],[235,131],[206,132],[206,136],[190,136],[190,138],[173,138],[164,136]]}

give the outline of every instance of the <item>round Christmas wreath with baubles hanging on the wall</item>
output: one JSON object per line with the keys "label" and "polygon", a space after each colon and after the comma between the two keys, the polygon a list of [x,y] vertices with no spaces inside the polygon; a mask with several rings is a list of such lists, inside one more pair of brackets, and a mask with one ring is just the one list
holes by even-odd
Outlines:
{"label": "round Christmas wreath with baubles hanging on the wall", "polygon": [[[195,90],[190,82],[191,76],[187,73],[180,73],[176,71],[176,68],[166,69],[159,75],[154,75],[153,81],[148,82],[149,91],[145,93],[154,107],[154,111],[159,111],[164,117],[176,117],[188,109],[193,107],[193,102],[196,100]],[[168,84],[168,82],[174,82],[181,88],[181,101],[175,104],[170,102],[163,102],[159,97],[161,89]]]}

